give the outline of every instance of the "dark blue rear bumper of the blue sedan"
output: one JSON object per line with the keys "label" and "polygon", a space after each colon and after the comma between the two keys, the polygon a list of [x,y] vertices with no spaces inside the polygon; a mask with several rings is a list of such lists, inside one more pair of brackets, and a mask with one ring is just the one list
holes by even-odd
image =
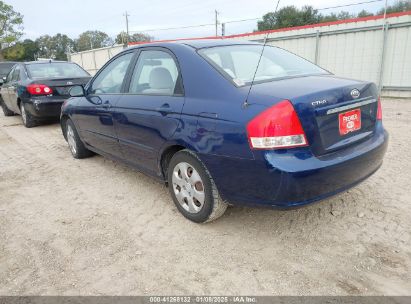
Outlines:
{"label": "dark blue rear bumper of the blue sedan", "polygon": [[290,208],[345,191],[381,166],[388,133],[321,157],[310,149],[257,151],[254,160],[201,156],[221,197],[232,204]]}

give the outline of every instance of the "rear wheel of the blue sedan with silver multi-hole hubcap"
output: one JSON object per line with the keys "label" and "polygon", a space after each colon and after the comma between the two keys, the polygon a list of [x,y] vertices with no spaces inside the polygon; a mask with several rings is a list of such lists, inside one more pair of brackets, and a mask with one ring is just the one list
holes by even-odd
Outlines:
{"label": "rear wheel of the blue sedan with silver multi-hole hubcap", "polygon": [[168,188],[177,209],[195,223],[218,219],[227,209],[207,168],[198,156],[182,150],[174,154],[167,170]]}

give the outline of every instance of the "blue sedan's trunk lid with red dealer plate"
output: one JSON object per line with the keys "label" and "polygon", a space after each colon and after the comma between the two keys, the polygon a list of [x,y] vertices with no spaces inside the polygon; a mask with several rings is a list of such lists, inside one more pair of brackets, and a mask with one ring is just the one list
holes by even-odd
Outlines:
{"label": "blue sedan's trunk lid with red dealer plate", "polygon": [[269,106],[275,99],[291,101],[315,155],[342,149],[374,132],[378,95],[373,83],[327,75],[278,80],[252,89],[250,100],[256,103]]}

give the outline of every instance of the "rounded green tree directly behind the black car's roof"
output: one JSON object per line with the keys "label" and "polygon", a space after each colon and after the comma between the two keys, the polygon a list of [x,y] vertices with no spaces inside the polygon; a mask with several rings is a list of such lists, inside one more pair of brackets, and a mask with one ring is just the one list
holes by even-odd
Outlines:
{"label": "rounded green tree directly behind the black car's roof", "polygon": [[74,48],[74,41],[67,35],[56,34],[54,36],[44,35],[36,40],[38,56],[52,58],[55,60],[67,60],[67,51]]}

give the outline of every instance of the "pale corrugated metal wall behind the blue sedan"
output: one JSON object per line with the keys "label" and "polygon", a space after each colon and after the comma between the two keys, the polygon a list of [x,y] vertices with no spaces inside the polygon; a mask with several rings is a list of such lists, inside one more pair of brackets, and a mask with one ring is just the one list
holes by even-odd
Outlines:
{"label": "pale corrugated metal wall behind the blue sedan", "polygon": [[[384,25],[385,24],[385,25]],[[309,25],[226,39],[264,41],[298,54],[332,73],[373,81],[384,95],[411,96],[411,12]],[[94,74],[122,46],[71,55]]]}

